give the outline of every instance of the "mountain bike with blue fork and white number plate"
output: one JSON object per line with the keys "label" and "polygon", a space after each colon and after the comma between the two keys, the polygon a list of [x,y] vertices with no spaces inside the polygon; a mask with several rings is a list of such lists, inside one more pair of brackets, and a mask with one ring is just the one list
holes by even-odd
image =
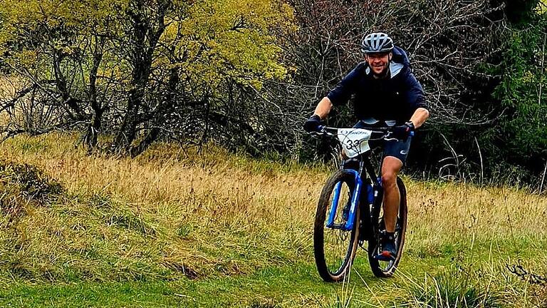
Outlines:
{"label": "mountain bike with blue fork and white number plate", "polygon": [[[382,180],[377,176],[371,153],[384,140],[392,140],[392,127],[330,128],[320,126],[317,133],[338,140],[342,150],[340,168],[328,178],[319,197],[313,231],[313,252],[317,270],[325,282],[340,282],[350,272],[358,246],[368,252],[370,268],[376,277],[391,277],[401,260],[407,230],[407,193],[397,178],[400,193],[395,225],[397,258],[377,260],[383,222]],[[383,156],[378,164],[381,170]]]}

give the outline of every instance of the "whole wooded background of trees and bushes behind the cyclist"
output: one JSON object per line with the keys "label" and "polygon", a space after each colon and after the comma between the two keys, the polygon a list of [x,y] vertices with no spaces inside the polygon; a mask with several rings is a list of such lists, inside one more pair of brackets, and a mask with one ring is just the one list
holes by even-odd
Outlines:
{"label": "whole wooded background of trees and bushes behind the cyclist", "polygon": [[[171,140],[325,158],[303,121],[363,61],[363,36],[385,31],[431,112],[408,170],[543,190],[545,12],[527,0],[0,0],[0,130],[77,130],[90,153]],[[354,122],[349,107],[328,119]]]}

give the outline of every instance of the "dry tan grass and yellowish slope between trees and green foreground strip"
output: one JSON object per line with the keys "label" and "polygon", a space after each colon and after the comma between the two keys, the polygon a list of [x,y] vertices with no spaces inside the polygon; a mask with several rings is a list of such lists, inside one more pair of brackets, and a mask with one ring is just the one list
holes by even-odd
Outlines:
{"label": "dry tan grass and yellowish slope between trees and green foreground strip", "polygon": [[[53,211],[28,209],[11,235],[24,243],[16,260],[43,272],[86,269],[92,279],[156,277],[162,269],[237,274],[313,262],[313,215],[328,170],[257,162],[218,148],[197,155],[170,145],[135,160],[88,156],[74,142],[72,135],[51,134],[0,145],[4,160],[37,165],[76,196]],[[406,182],[411,252],[434,256],[447,242],[476,241],[494,243],[502,254],[523,238],[545,243],[545,197]]]}

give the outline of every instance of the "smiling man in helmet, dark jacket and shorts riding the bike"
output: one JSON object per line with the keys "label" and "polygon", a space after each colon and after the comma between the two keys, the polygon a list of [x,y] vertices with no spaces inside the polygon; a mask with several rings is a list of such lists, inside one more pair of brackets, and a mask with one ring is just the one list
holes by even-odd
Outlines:
{"label": "smiling man in helmet, dark jacket and shorts riding the bike", "polygon": [[317,131],[321,120],[333,106],[346,103],[353,96],[353,110],[358,118],[354,128],[374,125],[395,125],[398,140],[384,144],[382,186],[384,188],[385,234],[377,260],[395,260],[395,224],[400,203],[397,175],[407,159],[412,132],[429,117],[424,91],[410,69],[410,61],[402,48],[394,46],[390,36],[373,33],[361,43],[365,61],[359,63],[338,85],[318,103],[304,129]]}

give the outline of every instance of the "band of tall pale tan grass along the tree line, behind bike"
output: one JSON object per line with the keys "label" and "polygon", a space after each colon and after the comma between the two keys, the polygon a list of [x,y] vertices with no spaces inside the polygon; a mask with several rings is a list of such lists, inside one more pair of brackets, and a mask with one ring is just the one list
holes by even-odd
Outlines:
{"label": "band of tall pale tan grass along the tree line, behind bike", "polygon": [[[290,207],[296,215],[309,217],[328,177],[327,170],[295,168],[283,172],[279,165],[238,160],[219,149],[196,158],[197,154],[161,145],[132,160],[85,155],[73,148],[75,139],[69,135],[40,138],[43,140],[37,142],[36,138],[21,136],[15,146],[4,144],[0,153],[8,160],[41,166],[71,192],[100,191],[135,205],[184,204],[184,210],[214,210],[231,203],[233,207],[225,210],[231,208],[234,215],[267,211],[264,216],[272,220],[278,220],[276,213]],[[21,145],[38,148],[16,150]],[[432,235],[543,235],[547,230],[547,199],[525,190],[410,180],[407,190],[413,227],[427,226]]]}

